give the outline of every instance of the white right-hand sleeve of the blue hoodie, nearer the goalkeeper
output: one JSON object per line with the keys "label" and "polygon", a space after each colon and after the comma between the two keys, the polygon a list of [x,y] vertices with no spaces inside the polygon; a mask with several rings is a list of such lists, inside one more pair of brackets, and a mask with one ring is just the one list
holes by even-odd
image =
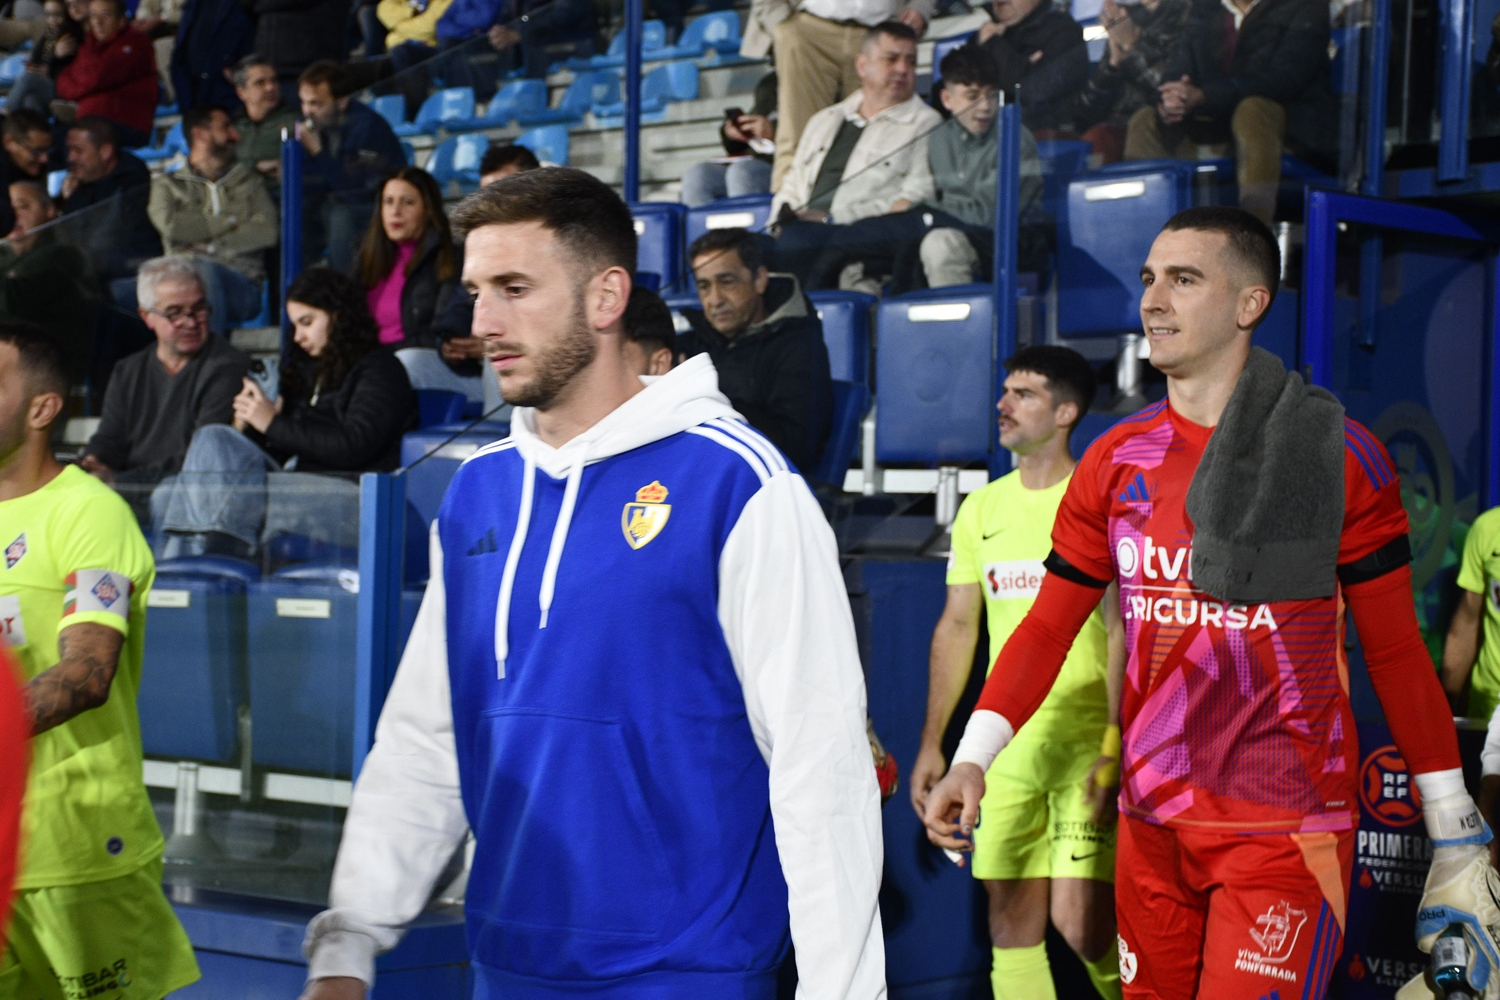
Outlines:
{"label": "white right-hand sleeve of the blue hoodie, nearer the goalkeeper", "polygon": [[880,793],[834,534],[795,472],[750,498],[718,561],[718,621],[756,744],[796,946],[796,996],[885,997]]}

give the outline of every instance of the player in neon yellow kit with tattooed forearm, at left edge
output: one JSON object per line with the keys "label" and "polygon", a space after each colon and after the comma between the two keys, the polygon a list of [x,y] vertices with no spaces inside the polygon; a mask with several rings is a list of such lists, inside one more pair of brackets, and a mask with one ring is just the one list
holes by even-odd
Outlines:
{"label": "player in neon yellow kit with tattooed forearm, at left edge", "polygon": [[56,342],[0,321],[0,640],[33,733],[0,1000],[160,1000],[198,964],[162,894],[141,780],[156,568],[126,502],[52,457],[68,390]]}

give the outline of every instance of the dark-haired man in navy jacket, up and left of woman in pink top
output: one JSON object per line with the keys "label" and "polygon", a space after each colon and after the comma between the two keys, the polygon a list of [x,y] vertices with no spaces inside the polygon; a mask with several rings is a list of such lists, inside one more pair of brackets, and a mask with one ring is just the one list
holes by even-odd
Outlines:
{"label": "dark-haired man in navy jacket, up and left of woman in pink top", "polygon": [[308,151],[303,198],[310,246],[326,246],[328,264],[346,274],[380,187],[390,171],[405,165],[406,153],[386,118],[351,97],[338,63],[309,66],[297,91],[308,118],[298,133]]}

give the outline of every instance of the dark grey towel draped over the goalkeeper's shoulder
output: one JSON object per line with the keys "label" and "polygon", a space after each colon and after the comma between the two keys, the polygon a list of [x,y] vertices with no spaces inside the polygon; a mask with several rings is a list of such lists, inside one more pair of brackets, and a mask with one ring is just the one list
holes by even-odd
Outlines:
{"label": "dark grey towel draped over the goalkeeper's shoulder", "polygon": [[1344,529],[1344,406],[1250,349],[1188,487],[1192,583],[1221,601],[1329,597]]}

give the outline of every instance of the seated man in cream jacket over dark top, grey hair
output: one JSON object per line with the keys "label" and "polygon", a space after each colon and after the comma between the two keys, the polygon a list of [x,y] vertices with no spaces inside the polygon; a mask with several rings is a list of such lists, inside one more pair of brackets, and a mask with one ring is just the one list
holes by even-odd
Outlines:
{"label": "seated man in cream jacket over dark top, grey hair", "polygon": [[[927,133],[942,117],[915,93],[916,33],[900,21],[868,28],[855,69],[861,88],[807,123],[771,202],[783,271],[810,274],[825,247],[843,235],[842,226],[934,196]],[[860,280],[846,276],[842,283]]]}

